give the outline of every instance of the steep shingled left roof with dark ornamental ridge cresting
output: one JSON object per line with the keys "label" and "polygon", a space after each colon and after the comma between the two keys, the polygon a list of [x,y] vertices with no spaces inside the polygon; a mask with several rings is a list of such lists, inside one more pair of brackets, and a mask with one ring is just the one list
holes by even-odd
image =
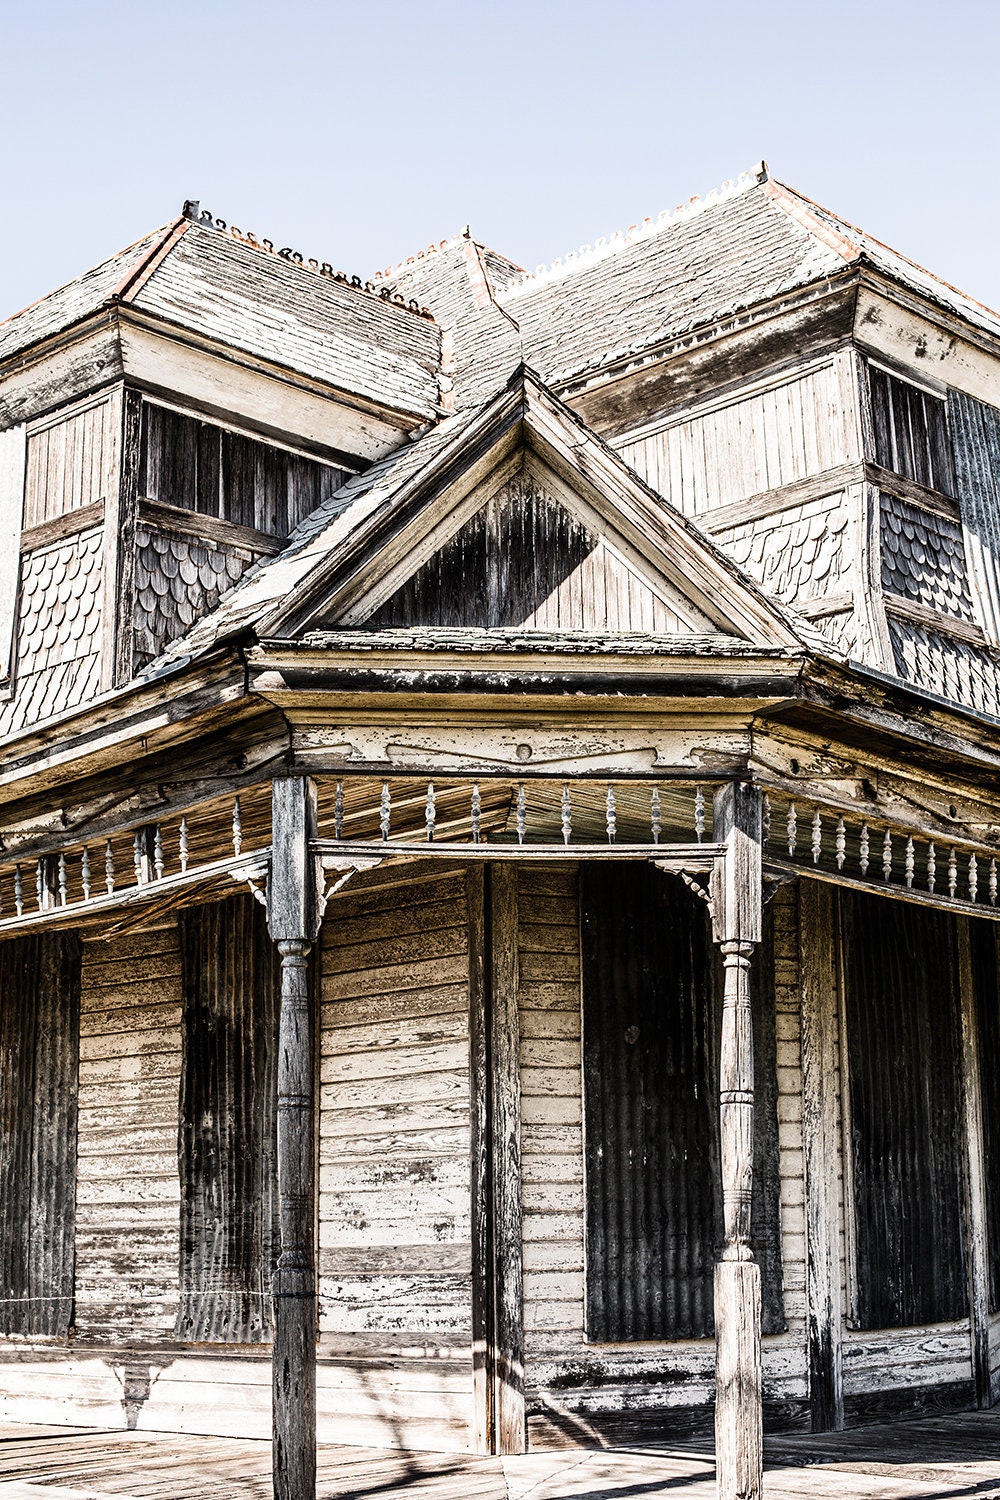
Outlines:
{"label": "steep shingled left roof with dark ornamental ridge cresting", "polygon": [[426,310],[210,216],[171,220],[0,324],[0,360],[115,304],[381,406],[438,411],[441,334]]}

